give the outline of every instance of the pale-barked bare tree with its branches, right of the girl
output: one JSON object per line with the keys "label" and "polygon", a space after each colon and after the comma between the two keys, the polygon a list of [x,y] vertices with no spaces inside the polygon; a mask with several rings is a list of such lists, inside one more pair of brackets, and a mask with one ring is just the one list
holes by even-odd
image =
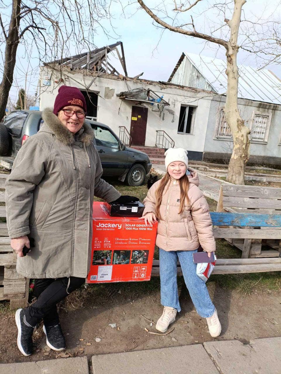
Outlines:
{"label": "pale-barked bare tree with its branches, right of the girl", "polygon": [[[188,12],[189,10],[193,10],[195,12],[196,5],[199,3],[199,1],[202,0],[184,1],[184,3],[177,5],[177,0],[174,0],[173,11],[176,15],[179,13]],[[231,19],[227,19],[225,16],[223,20],[224,25],[228,26],[228,30],[226,32],[222,31],[222,26],[214,30],[216,32],[219,30],[221,37],[216,37],[216,32],[205,34],[197,31],[195,27],[196,18],[194,20],[194,16],[192,15],[190,16],[191,21],[189,23],[178,25],[178,22],[176,22],[176,16],[174,18],[168,17],[168,13],[166,10],[167,8],[165,7],[165,5],[162,9],[156,7],[155,9],[153,9],[153,12],[152,9],[147,7],[142,0],[138,0],[138,3],[146,11],[146,13],[149,14],[150,17],[161,27],[166,28],[170,31],[174,31],[175,33],[204,39],[208,42],[216,43],[217,45],[225,48],[227,92],[224,111],[226,122],[229,125],[233,135],[233,152],[230,158],[226,180],[235,184],[244,184],[245,163],[249,158],[250,141],[248,135],[250,133],[250,130],[247,126],[244,125],[244,120],[241,118],[238,111],[237,95],[239,71],[237,66],[237,53],[239,50],[238,34],[241,22],[241,11],[243,5],[246,3],[246,0],[229,0],[213,4],[213,10],[217,9],[219,10],[219,13],[225,15],[226,10],[228,13],[232,13]],[[198,12],[199,10],[197,11],[197,13]],[[158,16],[156,13],[160,14],[160,16]],[[167,23],[164,19],[170,19],[171,22]],[[249,45],[250,42],[253,43],[253,40],[251,40],[250,36],[246,37],[245,39],[247,39],[247,45]],[[249,50],[249,52],[256,51],[254,51],[254,49],[252,48],[251,50]]]}

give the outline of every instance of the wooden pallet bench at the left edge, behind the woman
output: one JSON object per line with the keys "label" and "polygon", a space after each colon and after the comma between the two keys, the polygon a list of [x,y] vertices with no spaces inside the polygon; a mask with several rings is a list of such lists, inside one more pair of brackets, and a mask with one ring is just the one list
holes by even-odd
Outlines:
{"label": "wooden pallet bench at the left edge, behind the woman", "polygon": [[[0,217],[6,218],[5,182],[7,174],[0,174]],[[16,272],[16,253],[10,246],[6,223],[0,223],[0,300],[10,300],[10,309],[24,307],[28,301],[29,279]]]}

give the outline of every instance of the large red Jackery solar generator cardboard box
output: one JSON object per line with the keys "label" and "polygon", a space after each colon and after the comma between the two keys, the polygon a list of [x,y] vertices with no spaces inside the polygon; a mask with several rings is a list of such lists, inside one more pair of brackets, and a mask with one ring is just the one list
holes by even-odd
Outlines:
{"label": "large red Jackery solar generator cardboard box", "polygon": [[111,217],[107,204],[93,204],[91,267],[87,283],[150,281],[157,222]]}

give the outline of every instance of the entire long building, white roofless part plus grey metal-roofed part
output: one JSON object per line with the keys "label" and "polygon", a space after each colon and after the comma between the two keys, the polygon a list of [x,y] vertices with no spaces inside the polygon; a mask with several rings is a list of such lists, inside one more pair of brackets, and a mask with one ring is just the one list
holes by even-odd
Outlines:
{"label": "entire long building, white roofless part plus grey metal-roofed part", "polygon": [[[250,161],[280,163],[281,81],[267,70],[239,68],[238,107],[251,129]],[[128,76],[122,42],[45,63],[40,68],[40,110],[52,107],[60,85],[76,86],[86,98],[87,117],[110,126],[152,162],[158,162],[156,148],[169,147],[188,150],[192,160],[230,157],[224,61],[183,53],[168,82],[141,75]]]}

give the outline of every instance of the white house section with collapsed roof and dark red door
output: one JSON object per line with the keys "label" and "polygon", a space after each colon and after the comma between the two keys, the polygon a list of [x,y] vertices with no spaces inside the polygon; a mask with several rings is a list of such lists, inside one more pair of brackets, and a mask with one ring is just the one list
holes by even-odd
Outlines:
{"label": "white house section with collapsed roof and dark red door", "polygon": [[[113,54],[122,71],[113,67]],[[86,98],[87,117],[110,126],[127,145],[182,147],[201,160],[214,92],[140,76],[128,77],[122,42],[46,63],[40,110],[54,105],[59,86],[76,86]]]}

